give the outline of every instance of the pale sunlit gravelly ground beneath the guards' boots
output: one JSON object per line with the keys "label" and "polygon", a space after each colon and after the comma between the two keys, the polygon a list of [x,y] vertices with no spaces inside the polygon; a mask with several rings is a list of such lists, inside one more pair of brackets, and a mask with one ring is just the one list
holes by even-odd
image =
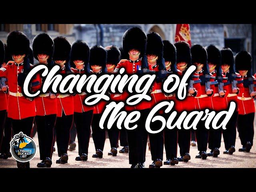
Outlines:
{"label": "pale sunlit gravelly ground beneath the guards' boots", "polygon": [[[254,122],[256,122],[254,120]],[[256,129],[256,124],[254,123],[254,128]],[[37,134],[34,138],[35,142],[38,143]],[[256,143],[256,136],[254,136],[254,143]],[[77,140],[76,140],[77,144]],[[38,146],[37,146],[38,147]],[[56,145],[55,145],[56,147]],[[222,138],[222,144],[220,148],[220,155],[218,158],[208,157],[207,160],[196,159],[195,156],[198,153],[197,147],[190,147],[191,160],[188,163],[179,162],[176,166],[162,166],[162,168],[256,168],[256,146],[253,146],[250,153],[238,152],[238,148],[241,147],[240,139],[236,137],[236,152],[233,155],[223,154],[224,142]],[[121,148],[118,148],[118,150]],[[110,142],[106,139],[103,158],[92,158],[94,154],[94,143],[92,138],[89,144],[89,154],[88,160],[85,162],[75,161],[76,156],[78,156],[78,146],[75,151],[68,151],[68,164],[56,164],[58,155],[54,152],[52,157],[52,167],[53,168],[129,168],[128,154],[118,153],[116,157],[108,156],[108,151],[110,150]],[[179,155],[179,148],[178,148]],[[165,160],[165,151],[164,151]],[[36,164],[40,162],[39,158],[39,147],[36,157],[30,161],[30,167],[36,168]],[[150,151],[147,149],[145,166],[148,167],[151,161]],[[0,159],[0,168],[16,168],[16,161],[13,158],[8,160]]]}

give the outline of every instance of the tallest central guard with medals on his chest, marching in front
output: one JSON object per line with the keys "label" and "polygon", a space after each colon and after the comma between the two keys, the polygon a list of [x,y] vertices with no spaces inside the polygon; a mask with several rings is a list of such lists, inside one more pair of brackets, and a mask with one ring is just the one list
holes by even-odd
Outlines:
{"label": "tallest central guard with medals on his chest, marching in front", "polygon": [[[125,68],[127,74],[143,73],[152,70],[146,57],[147,36],[143,30],[138,27],[128,29],[123,35],[123,50],[129,54],[128,60],[121,60],[116,66],[114,72],[117,73],[120,68]],[[121,95],[122,100],[126,100],[128,92]],[[140,121],[135,130],[127,130],[127,140],[129,145],[129,164],[131,168],[145,168],[146,146],[148,132],[145,129],[146,118],[150,112],[150,102],[142,101],[136,106],[125,106],[125,110],[130,112],[138,110],[140,112]]]}

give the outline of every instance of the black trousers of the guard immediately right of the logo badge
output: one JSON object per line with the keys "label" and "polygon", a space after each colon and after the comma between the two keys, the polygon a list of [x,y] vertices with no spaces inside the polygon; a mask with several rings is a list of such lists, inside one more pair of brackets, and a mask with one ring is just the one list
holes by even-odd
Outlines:
{"label": "black trousers of the guard immediately right of the logo badge", "polygon": [[46,157],[52,158],[56,114],[36,116],[35,121],[38,134],[40,160],[45,160]]}

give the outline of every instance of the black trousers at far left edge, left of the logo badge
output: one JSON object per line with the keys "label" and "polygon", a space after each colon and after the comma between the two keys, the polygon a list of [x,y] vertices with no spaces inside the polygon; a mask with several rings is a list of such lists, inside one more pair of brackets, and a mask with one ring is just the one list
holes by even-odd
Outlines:
{"label": "black trousers at far left edge, left of the logo badge", "polygon": [[2,140],[1,153],[10,152],[10,141],[12,140],[12,123],[11,119],[7,117],[4,124],[4,136]]}

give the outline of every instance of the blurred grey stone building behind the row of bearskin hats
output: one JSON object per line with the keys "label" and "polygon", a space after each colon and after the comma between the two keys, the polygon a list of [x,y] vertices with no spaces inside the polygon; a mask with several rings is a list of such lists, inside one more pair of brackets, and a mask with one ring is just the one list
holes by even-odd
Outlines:
{"label": "blurred grey stone building behind the row of bearskin hats", "polygon": [[[52,38],[65,36],[70,43],[77,39],[89,46],[122,46],[122,36],[131,27],[139,26],[146,33],[157,32],[163,40],[174,42],[176,24],[0,24],[0,39],[6,43],[7,34],[13,30],[23,31],[31,40],[41,32]],[[191,42],[219,48],[229,47],[234,54],[246,50],[252,54],[253,71],[256,72],[256,24],[190,24]]]}

